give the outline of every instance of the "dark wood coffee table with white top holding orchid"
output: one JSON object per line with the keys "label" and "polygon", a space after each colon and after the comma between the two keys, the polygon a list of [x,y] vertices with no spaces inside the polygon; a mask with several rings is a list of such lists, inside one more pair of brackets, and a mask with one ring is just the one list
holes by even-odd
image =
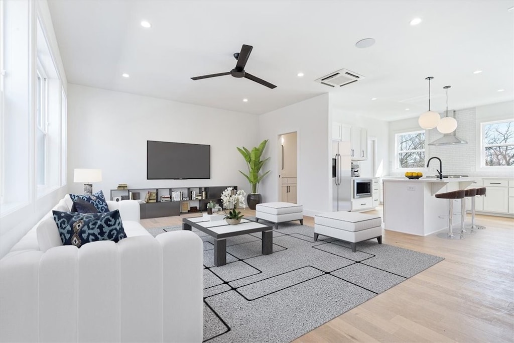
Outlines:
{"label": "dark wood coffee table with white top holding orchid", "polygon": [[229,225],[225,220],[210,221],[205,217],[182,219],[182,230],[191,230],[194,227],[214,238],[214,265],[227,264],[227,237],[239,236],[253,232],[262,232],[262,254],[273,252],[273,231],[271,226],[256,223],[248,219],[241,219],[237,225]]}

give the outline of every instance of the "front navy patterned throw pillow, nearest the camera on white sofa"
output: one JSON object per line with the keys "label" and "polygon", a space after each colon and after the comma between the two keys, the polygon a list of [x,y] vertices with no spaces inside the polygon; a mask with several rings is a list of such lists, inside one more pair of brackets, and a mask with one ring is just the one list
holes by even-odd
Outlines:
{"label": "front navy patterned throw pillow, nearest the camera on white sofa", "polygon": [[80,248],[89,242],[118,242],[127,237],[118,210],[106,213],[52,212],[64,245]]}

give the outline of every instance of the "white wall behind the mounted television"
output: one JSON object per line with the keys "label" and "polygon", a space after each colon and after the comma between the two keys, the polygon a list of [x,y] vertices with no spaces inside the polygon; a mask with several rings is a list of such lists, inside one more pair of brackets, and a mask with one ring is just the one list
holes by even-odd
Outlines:
{"label": "white wall behind the mounted television", "polygon": [[[236,147],[258,142],[257,116],[68,84],[68,179],[75,168],[102,169],[93,191],[235,185],[250,191]],[[211,146],[211,178],[147,180],[146,140]],[[82,184],[69,183],[81,193]]]}

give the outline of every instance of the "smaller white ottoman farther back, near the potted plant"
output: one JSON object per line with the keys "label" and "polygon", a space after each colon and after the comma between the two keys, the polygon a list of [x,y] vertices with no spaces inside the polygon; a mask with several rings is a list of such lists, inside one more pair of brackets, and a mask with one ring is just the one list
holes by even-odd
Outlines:
{"label": "smaller white ottoman farther back, near the potted plant", "polygon": [[263,203],[255,206],[255,221],[259,219],[275,223],[275,229],[279,223],[299,220],[303,225],[303,206],[291,203]]}

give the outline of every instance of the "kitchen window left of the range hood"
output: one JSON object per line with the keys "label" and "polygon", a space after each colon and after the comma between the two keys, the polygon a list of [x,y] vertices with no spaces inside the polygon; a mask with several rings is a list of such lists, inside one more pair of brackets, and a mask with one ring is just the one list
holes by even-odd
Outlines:
{"label": "kitchen window left of the range hood", "polygon": [[395,135],[397,168],[425,167],[425,131]]}

